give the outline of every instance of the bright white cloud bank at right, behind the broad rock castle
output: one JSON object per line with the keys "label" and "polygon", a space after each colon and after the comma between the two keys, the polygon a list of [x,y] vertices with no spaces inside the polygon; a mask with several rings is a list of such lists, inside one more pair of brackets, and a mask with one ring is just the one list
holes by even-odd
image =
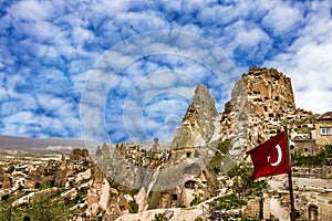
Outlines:
{"label": "bright white cloud bank at right, behind the broad rock castle", "polygon": [[[312,2],[305,17],[307,25],[284,52],[264,65],[273,66],[291,76],[297,106],[314,113],[332,109],[332,20],[331,3]],[[330,4],[330,6],[326,6]]]}

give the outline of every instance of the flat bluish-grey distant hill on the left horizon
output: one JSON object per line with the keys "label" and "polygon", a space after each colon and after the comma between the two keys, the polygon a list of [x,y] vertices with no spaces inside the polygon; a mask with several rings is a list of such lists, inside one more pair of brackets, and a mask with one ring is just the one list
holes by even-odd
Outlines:
{"label": "flat bluish-grey distant hill on the left horizon", "polygon": [[0,149],[10,150],[66,150],[72,148],[91,148],[100,145],[97,141],[71,139],[71,138],[29,138],[29,137],[13,137],[0,135]]}

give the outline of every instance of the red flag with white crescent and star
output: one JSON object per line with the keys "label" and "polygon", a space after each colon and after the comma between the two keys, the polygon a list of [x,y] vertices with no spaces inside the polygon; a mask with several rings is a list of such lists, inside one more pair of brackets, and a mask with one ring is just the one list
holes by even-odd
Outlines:
{"label": "red flag with white crescent and star", "polygon": [[249,150],[255,172],[251,179],[288,172],[284,131]]}

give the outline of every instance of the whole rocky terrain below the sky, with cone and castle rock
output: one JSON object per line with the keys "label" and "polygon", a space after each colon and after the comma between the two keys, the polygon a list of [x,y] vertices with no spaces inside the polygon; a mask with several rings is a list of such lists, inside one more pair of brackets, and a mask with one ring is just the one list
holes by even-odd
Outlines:
{"label": "whole rocky terrain below the sky, with cone and castle rock", "polygon": [[332,147],[302,154],[314,146],[315,118],[295,107],[289,77],[252,67],[222,113],[208,87],[198,85],[170,144],[155,138],[62,155],[2,150],[0,218],[48,220],[41,218],[46,212],[50,220],[289,220],[287,177],[253,182],[246,155],[288,126],[297,215],[331,220]]}

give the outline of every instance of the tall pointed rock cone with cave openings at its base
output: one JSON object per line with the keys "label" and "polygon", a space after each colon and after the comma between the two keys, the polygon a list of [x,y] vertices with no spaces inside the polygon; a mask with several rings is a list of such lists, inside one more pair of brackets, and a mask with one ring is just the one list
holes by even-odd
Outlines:
{"label": "tall pointed rock cone with cave openings at its base", "polygon": [[189,207],[195,197],[205,200],[212,194],[217,180],[207,165],[214,154],[209,143],[216,130],[216,120],[218,112],[215,101],[207,86],[199,84],[176,131],[167,160],[160,170],[157,169],[151,179],[146,179],[147,201],[139,201],[141,211]]}

